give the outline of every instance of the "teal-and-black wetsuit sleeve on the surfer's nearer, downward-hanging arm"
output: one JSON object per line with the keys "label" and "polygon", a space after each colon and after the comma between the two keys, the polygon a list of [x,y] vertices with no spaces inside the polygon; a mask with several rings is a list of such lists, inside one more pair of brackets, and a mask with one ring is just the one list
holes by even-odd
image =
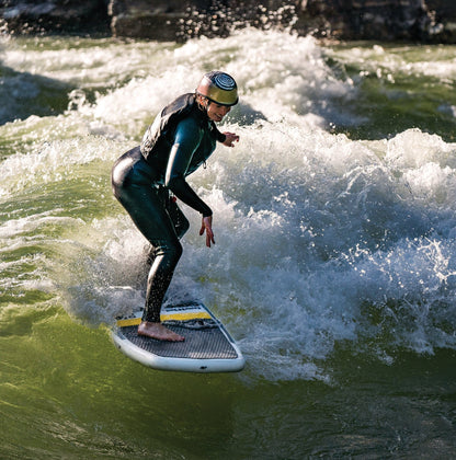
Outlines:
{"label": "teal-and-black wetsuit sleeve on the surfer's nearer, downward-hanging arm", "polygon": [[185,205],[201,212],[203,217],[208,217],[213,211],[185,181],[185,173],[201,140],[201,128],[193,118],[185,118],[179,123],[168,160],[164,185]]}

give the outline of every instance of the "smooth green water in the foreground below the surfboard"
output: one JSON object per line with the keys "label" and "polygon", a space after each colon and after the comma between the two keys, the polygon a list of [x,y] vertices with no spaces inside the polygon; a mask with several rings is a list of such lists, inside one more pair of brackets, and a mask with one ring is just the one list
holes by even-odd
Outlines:
{"label": "smooth green water in the foreground below the surfboard", "polygon": [[153,372],[126,361],[105,330],[75,324],[58,309],[30,317],[1,341],[3,458],[454,452],[454,353],[403,354],[396,365],[381,366],[341,352],[333,358],[335,386],[252,384],[236,376]]}

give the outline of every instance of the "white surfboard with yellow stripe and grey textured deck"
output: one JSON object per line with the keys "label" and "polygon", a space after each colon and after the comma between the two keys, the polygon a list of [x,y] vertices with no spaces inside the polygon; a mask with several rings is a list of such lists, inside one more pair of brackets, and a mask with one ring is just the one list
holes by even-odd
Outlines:
{"label": "white surfboard with yellow stripe and grey textured deck", "polygon": [[153,369],[186,372],[237,372],[244,358],[221,322],[201,302],[167,306],[161,321],[185,337],[164,342],[138,335],[142,309],[118,318],[112,331],[115,346],[129,358]]}

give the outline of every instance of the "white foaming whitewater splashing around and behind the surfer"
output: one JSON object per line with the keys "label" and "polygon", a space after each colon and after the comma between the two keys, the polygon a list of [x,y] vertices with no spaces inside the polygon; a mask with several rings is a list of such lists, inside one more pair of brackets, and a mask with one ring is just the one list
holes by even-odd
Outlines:
{"label": "white foaming whitewater splashing around and behind the surfer", "polygon": [[[168,301],[210,306],[251,375],[269,380],[330,381],[340,349],[390,364],[403,349],[456,346],[456,146],[418,128],[335,134],[334,123],[360,123],[340,102],[355,104],[362,88],[330,49],[252,30],[179,46],[44,48],[4,51],[15,71],[71,88],[61,113],[1,128],[0,250],[11,256],[9,242],[25,251],[33,239],[46,271],[31,278],[50,283],[76,320],[110,323],[142,303],[145,241],[111,195],[111,165],[170,99],[218,68],[241,94],[221,129],[241,140],[190,177],[215,210],[216,245],[204,246],[200,217],[184,207],[191,230]],[[363,53],[374,67],[390,56]]]}

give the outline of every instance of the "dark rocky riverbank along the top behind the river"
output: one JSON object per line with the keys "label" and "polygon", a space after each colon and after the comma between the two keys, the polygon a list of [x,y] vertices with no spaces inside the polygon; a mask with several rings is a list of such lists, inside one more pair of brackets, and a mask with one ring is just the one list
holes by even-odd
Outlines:
{"label": "dark rocky riverbank along the top behind the river", "polygon": [[456,43],[454,0],[1,0],[3,33],[185,41],[247,25],[341,39]]}

